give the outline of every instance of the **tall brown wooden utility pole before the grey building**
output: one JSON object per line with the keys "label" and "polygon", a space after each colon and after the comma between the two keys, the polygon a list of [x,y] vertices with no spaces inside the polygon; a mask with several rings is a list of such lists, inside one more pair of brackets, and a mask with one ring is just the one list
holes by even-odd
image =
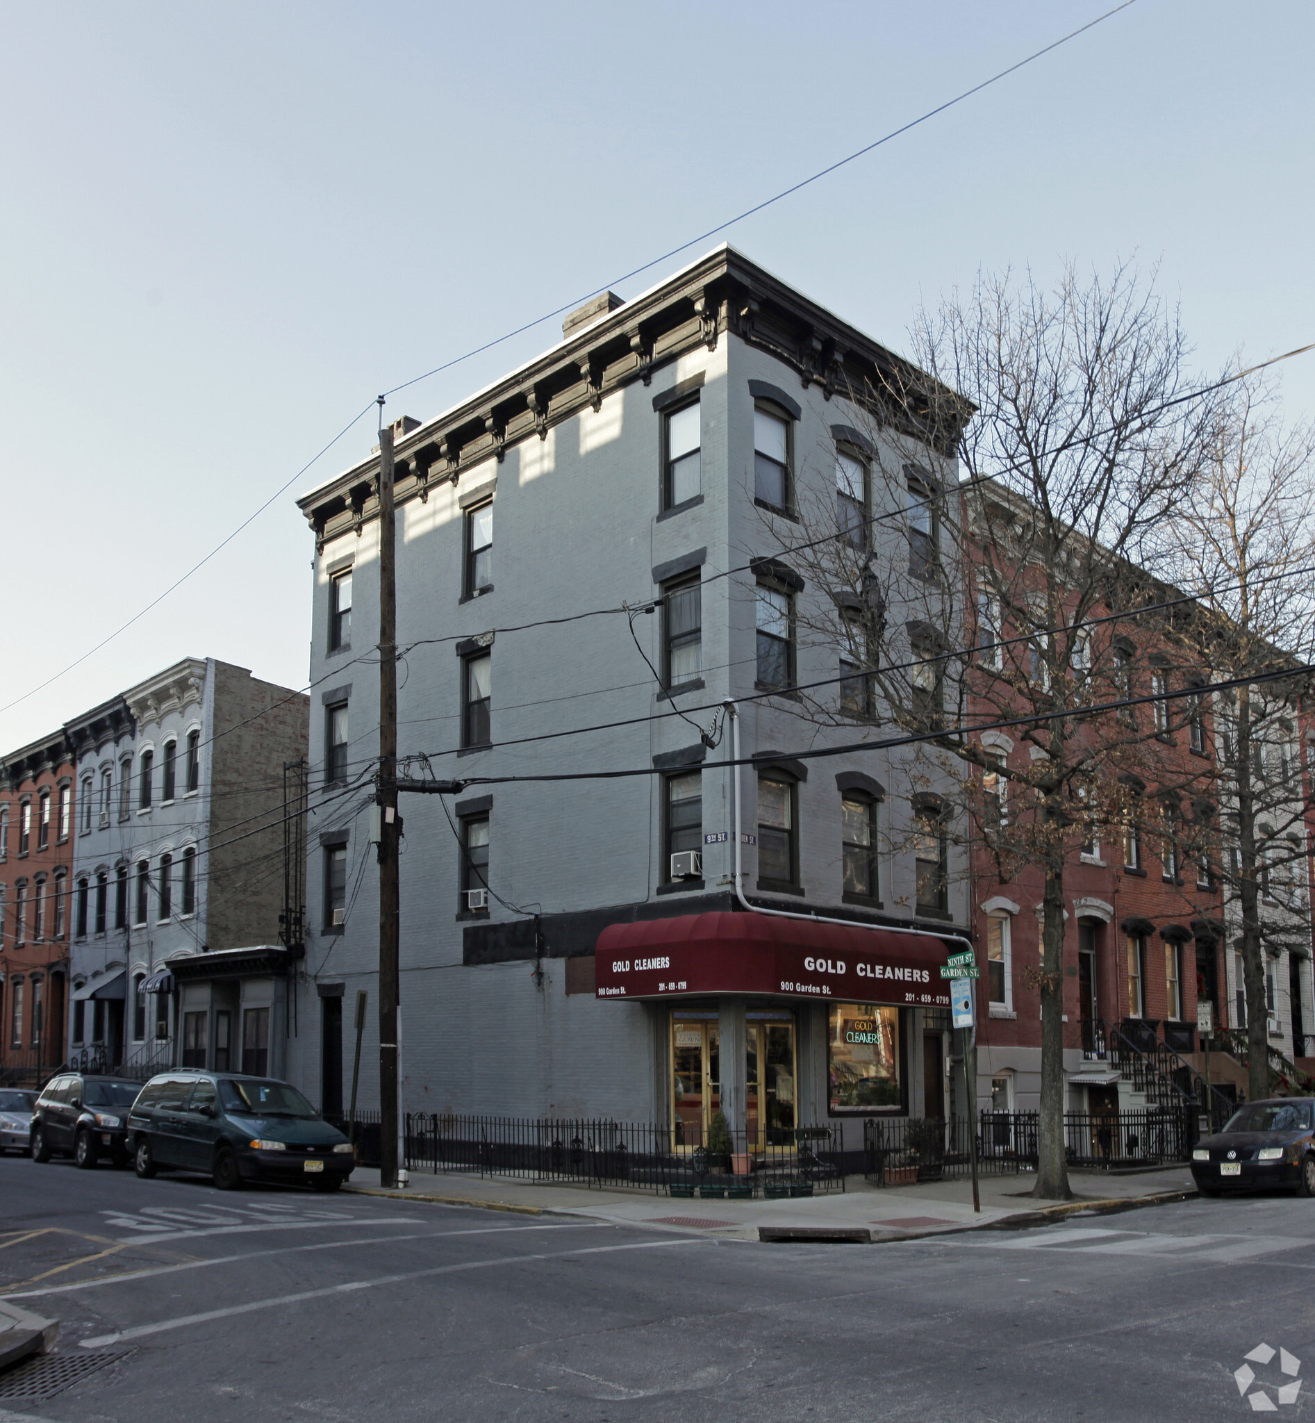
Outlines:
{"label": "tall brown wooden utility pole before the grey building", "polygon": [[397,1185],[397,571],[393,431],[379,397],[379,1175]]}

